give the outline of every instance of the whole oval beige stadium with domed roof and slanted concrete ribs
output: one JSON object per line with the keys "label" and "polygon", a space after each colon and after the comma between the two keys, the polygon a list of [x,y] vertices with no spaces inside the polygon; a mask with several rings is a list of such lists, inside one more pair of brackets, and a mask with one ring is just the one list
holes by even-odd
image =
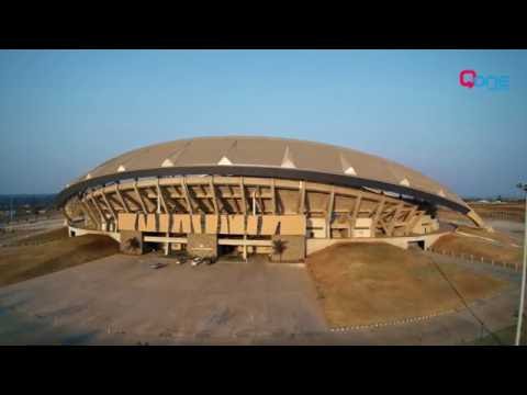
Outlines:
{"label": "whole oval beige stadium with domed roof and slanted concrete ribs", "polygon": [[418,171],[354,149],[276,137],[200,137],[110,159],[57,198],[70,236],[105,234],[128,253],[152,246],[202,257],[280,260],[341,241],[426,248],[438,207],[484,227],[456,193]]}

